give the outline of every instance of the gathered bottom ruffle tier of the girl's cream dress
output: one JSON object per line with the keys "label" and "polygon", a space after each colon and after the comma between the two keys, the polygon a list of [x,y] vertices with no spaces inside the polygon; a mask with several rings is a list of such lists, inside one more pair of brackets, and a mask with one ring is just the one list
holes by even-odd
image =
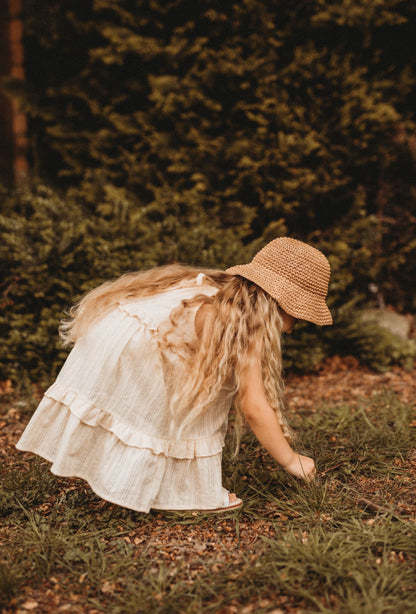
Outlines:
{"label": "gathered bottom ruffle tier of the girl's cream dress", "polygon": [[52,463],[62,477],[88,482],[102,499],[138,512],[214,509],[226,503],[222,454],[177,459],[124,444],[113,432],[81,422],[44,398],[16,446]]}

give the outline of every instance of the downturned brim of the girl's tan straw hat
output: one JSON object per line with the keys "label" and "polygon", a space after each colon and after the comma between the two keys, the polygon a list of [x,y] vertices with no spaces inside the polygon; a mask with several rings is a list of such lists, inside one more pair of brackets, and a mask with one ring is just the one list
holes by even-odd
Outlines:
{"label": "downturned brim of the girl's tan straw hat", "polygon": [[332,324],[332,315],[324,297],[308,292],[290,280],[262,270],[257,266],[239,264],[226,269],[230,275],[241,275],[265,290],[288,313],[298,320],[306,320],[318,326]]}

